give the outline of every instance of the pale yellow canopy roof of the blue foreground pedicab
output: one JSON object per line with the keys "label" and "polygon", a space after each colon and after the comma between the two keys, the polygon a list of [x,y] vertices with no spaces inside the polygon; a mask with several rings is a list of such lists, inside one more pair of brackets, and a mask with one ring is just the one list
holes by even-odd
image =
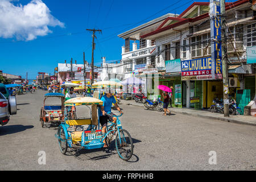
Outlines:
{"label": "pale yellow canopy roof of the blue foreground pedicab", "polygon": [[80,105],[102,105],[103,101],[94,97],[76,97],[71,98],[64,103],[66,106],[80,106]]}

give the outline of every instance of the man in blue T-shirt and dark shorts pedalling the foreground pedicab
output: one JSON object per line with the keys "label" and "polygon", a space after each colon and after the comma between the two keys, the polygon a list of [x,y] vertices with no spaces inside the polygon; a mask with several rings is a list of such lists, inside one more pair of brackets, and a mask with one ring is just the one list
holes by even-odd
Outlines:
{"label": "man in blue T-shirt and dark shorts pedalling the foreground pedicab", "polygon": [[[116,123],[117,118],[114,117],[114,113],[111,111],[111,106],[114,104],[115,108],[122,114],[120,107],[117,105],[115,98],[112,93],[110,93],[110,89],[106,90],[105,95],[101,97],[101,101],[103,101],[103,105],[101,106],[100,111],[100,123],[102,126],[101,133],[104,135],[106,133],[106,127],[108,125],[108,120],[110,122]],[[106,115],[108,114],[108,115]],[[104,148],[108,147],[106,141],[104,140]]]}

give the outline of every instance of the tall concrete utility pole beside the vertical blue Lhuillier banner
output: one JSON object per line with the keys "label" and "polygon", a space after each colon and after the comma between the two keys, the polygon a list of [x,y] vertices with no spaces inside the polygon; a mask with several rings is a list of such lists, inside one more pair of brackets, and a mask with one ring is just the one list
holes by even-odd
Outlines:
{"label": "tall concrete utility pole beside the vertical blue Lhuillier banner", "polygon": [[227,35],[226,35],[226,9],[225,0],[220,0],[221,6],[221,49],[222,49],[222,76],[223,76],[223,100],[224,117],[229,117],[229,75],[228,75],[228,53],[227,53]]}

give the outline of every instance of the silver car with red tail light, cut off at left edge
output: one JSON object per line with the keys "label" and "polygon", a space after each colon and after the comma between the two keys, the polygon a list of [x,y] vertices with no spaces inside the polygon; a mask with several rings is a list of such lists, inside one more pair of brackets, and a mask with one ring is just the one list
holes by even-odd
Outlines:
{"label": "silver car with red tail light, cut off at left edge", "polygon": [[9,102],[0,92],[0,125],[6,125],[9,122]]}

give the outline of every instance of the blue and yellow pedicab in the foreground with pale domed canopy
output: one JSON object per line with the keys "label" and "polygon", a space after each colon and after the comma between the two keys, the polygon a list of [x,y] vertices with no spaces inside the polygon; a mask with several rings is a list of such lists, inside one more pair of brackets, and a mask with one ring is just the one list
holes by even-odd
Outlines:
{"label": "blue and yellow pedicab in the foreground with pale domed canopy", "polygon": [[[94,94],[94,97],[97,94]],[[64,105],[67,108],[71,106],[90,106],[91,108],[89,107],[90,116],[76,119],[69,119],[65,110],[64,122],[61,122],[55,134],[55,137],[59,141],[60,152],[65,155],[68,148],[76,147],[78,147],[78,150],[82,148],[86,150],[103,148],[104,140],[108,146],[112,140],[115,140],[115,149],[119,157],[123,160],[129,160],[133,155],[134,146],[130,134],[122,128],[121,121],[119,120],[122,114],[115,116],[117,117],[117,123],[109,121],[110,125],[106,128],[106,134],[102,134],[99,111],[103,102],[94,97],[77,97],[65,101]]]}

